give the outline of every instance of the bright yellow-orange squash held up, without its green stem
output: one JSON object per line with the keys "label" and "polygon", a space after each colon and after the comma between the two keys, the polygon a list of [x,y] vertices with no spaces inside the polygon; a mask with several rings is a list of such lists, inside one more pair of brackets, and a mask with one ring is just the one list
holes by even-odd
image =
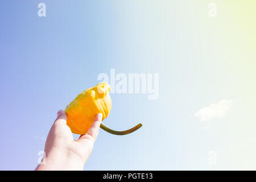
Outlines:
{"label": "bright yellow-orange squash held up, without its green stem", "polygon": [[102,82],[84,90],[65,109],[67,125],[75,134],[86,134],[96,115],[102,113],[102,121],[112,108],[110,85]]}

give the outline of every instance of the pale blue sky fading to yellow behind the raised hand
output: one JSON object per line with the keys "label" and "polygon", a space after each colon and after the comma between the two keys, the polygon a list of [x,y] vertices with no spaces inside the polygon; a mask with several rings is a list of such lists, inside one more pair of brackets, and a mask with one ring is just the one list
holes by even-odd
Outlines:
{"label": "pale blue sky fading to yellow behind the raised hand", "polygon": [[143,126],[100,130],[85,170],[256,169],[255,6],[1,1],[0,169],[34,170],[57,111],[111,69],[158,74],[159,94],[110,93],[104,123]]}

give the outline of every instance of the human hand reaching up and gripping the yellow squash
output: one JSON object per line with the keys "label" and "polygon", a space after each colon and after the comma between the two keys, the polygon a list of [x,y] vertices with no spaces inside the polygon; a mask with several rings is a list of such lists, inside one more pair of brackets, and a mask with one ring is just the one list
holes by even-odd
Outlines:
{"label": "human hand reaching up and gripping the yellow squash", "polygon": [[102,114],[97,114],[92,126],[77,140],[73,139],[67,125],[67,115],[60,110],[49,131],[44,147],[44,164],[39,164],[36,170],[82,170],[89,158],[93,144],[97,138]]}

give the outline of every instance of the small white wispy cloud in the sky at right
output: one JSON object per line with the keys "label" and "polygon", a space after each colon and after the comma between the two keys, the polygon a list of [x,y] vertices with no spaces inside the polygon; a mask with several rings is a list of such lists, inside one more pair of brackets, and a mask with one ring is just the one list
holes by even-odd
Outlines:
{"label": "small white wispy cloud in the sky at right", "polygon": [[223,118],[226,112],[232,109],[233,104],[232,100],[223,100],[217,104],[200,109],[195,113],[195,116],[200,117],[201,121],[208,121],[212,118]]}

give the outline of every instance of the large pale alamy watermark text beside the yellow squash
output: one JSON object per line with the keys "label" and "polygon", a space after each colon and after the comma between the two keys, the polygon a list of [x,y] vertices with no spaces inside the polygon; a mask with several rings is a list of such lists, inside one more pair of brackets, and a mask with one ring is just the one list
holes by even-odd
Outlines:
{"label": "large pale alamy watermark text beside the yellow squash", "polygon": [[159,96],[159,73],[115,73],[110,69],[110,76],[100,73],[97,80],[110,84],[110,93],[147,94],[148,100],[156,100]]}

